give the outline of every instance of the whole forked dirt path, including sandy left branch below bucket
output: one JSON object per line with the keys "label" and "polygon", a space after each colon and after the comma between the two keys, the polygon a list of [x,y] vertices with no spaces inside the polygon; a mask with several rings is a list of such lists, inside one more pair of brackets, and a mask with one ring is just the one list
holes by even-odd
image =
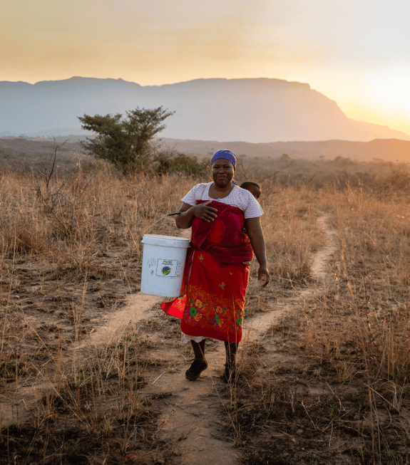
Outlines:
{"label": "whole forked dirt path, including sandy left branch below bucket", "polygon": [[[312,269],[316,282],[311,287],[300,289],[292,298],[271,301],[265,312],[257,313],[252,319],[245,319],[244,335],[238,354],[239,366],[241,354],[244,354],[250,345],[265,338],[272,326],[279,323],[285,312],[292,310],[292,305],[300,305],[301,301],[311,298],[315,292],[326,286],[327,264],[337,245],[334,234],[327,226],[326,217],[323,216],[319,221],[327,237],[326,244],[314,256]],[[158,315],[160,301],[158,297],[140,293],[130,296],[124,308],[106,318],[103,325],[92,330],[88,338],[68,350],[67,355],[70,356],[70,353],[71,356],[79,355],[83,348],[108,344],[121,338],[130,323],[139,331],[148,320]],[[147,385],[142,387],[138,393],[141,399],[155,397],[161,392],[168,393],[168,397],[161,403],[158,437],[178,452],[179,464],[240,464],[234,444],[227,442],[220,433],[222,420],[218,412],[221,402],[224,402],[221,394],[227,390],[227,385],[220,379],[225,363],[223,343],[219,341],[207,343],[209,366],[199,380],[189,382],[185,380],[184,375],[190,363],[188,348],[175,341],[170,343],[166,335],[160,331],[143,330],[143,333],[154,343],[150,355],[164,362],[158,370],[150,371]],[[269,351],[271,353],[267,354],[270,355],[267,359],[269,358],[270,362],[275,360],[275,357],[277,360],[283,357],[283,355],[275,355],[275,347],[272,345]],[[30,404],[33,405],[36,399],[43,395],[44,390],[52,389],[52,387],[42,384],[28,389],[30,393],[26,393],[27,397],[24,401],[27,411],[29,411]],[[4,425],[16,420],[16,412],[12,407],[10,408],[10,412],[5,410],[1,412]],[[22,418],[20,413],[19,419]]]}

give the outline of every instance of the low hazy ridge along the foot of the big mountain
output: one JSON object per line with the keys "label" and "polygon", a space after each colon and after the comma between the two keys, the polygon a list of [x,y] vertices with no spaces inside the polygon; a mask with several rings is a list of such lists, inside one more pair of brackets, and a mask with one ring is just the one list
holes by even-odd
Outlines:
{"label": "low hazy ridge along the foot of the big mountain", "polygon": [[[66,139],[61,137],[58,143]],[[93,159],[81,152],[79,142],[66,142],[57,154],[57,169],[66,174],[82,166],[86,172],[88,162]],[[397,144],[396,142],[399,142]],[[270,144],[252,144],[246,142],[204,142],[195,140],[165,139],[162,144],[185,153],[210,160],[210,152],[218,147],[230,147],[237,155],[237,182],[245,179],[262,182],[264,179],[285,183],[313,182],[312,185],[323,187],[337,182],[344,186],[372,182],[392,173],[408,174],[409,163],[396,165],[394,162],[372,161],[385,154],[387,160],[399,159],[394,148],[410,149],[410,141],[374,140],[371,142],[345,142],[339,140],[322,142],[276,142]],[[283,144],[286,146],[284,147]],[[285,149],[285,150],[284,150]],[[342,152],[341,152],[342,150]],[[33,171],[51,169],[54,153],[53,140],[26,140],[21,137],[0,138],[0,169]],[[286,155],[284,155],[284,153]],[[289,155],[290,154],[290,155]],[[356,154],[356,155],[355,155]],[[359,155],[357,155],[359,154]],[[245,157],[241,157],[245,155]],[[362,159],[362,157],[364,157]],[[401,176],[400,174],[400,176]],[[406,179],[404,177],[403,179]],[[269,184],[269,183],[268,183]],[[266,185],[266,184],[265,184]]]}

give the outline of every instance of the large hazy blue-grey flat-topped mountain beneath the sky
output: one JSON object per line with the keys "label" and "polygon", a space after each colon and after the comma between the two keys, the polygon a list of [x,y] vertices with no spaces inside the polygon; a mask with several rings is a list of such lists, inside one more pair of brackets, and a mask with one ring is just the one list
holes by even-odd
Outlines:
{"label": "large hazy blue-grey flat-topped mountain beneath the sky", "polygon": [[267,78],[197,79],[152,86],[81,77],[36,84],[3,81],[0,136],[81,133],[77,117],[84,113],[106,115],[160,105],[176,112],[161,133],[174,139],[410,140],[404,132],[349,119],[336,102],[309,84]]}

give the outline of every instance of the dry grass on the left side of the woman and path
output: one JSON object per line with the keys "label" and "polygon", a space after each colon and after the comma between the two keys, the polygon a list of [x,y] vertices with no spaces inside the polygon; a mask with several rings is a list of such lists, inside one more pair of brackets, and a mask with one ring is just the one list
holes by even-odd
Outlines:
{"label": "dry grass on the left side of the woman and path", "polygon": [[[9,424],[0,463],[145,463],[173,454],[153,439],[155,404],[169,394],[149,402],[139,394],[159,363],[145,355],[150,341],[132,331],[99,349],[72,345],[102,323],[90,323],[99,308],[138,291],[144,231],[179,208],[195,179],[78,168],[49,179],[49,190],[29,173],[0,175],[0,419]],[[148,231],[176,232],[166,219]],[[45,392],[40,402],[24,397],[24,385]],[[9,408],[22,401],[26,408]]]}

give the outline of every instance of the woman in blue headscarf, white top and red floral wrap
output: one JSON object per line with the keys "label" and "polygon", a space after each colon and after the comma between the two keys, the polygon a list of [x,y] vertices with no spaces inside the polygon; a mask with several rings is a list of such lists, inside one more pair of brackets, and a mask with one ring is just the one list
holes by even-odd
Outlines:
{"label": "woman in blue headscarf, white top and red floral wrap", "polygon": [[[235,379],[235,355],[242,338],[243,306],[253,252],[259,262],[262,288],[270,281],[263,214],[252,194],[232,182],[236,159],[230,150],[212,155],[213,182],[197,184],[183,197],[175,224],[192,226],[191,246],[185,263],[183,296],[163,303],[165,313],[182,319],[183,340],[193,346],[195,360],[185,372],[198,380],[206,370],[205,338],[225,342],[223,378]],[[245,234],[245,229],[247,234]]]}

